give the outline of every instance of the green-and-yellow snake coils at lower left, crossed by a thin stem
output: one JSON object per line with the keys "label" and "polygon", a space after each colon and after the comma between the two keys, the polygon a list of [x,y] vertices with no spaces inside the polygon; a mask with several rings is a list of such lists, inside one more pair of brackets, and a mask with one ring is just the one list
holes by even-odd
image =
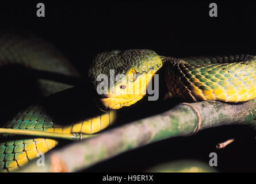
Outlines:
{"label": "green-and-yellow snake coils at lower left, crossed by a thin stem", "polygon": [[[32,112],[33,111],[33,112]],[[110,110],[100,116],[95,118],[90,118],[88,120],[80,121],[69,126],[60,126],[53,124],[50,117],[45,116],[44,110],[40,106],[29,107],[24,112],[18,113],[12,121],[7,122],[6,128],[16,128],[19,129],[30,129],[30,123],[33,122],[26,117],[26,114],[30,114],[30,118],[33,119],[33,115],[36,114],[38,119],[44,117],[43,129],[39,131],[44,132],[54,132],[54,133],[81,133],[81,134],[92,134],[101,131],[108,127],[116,118],[116,113],[113,110]],[[32,114],[32,116],[31,116]],[[19,126],[17,127],[17,122],[20,121]],[[22,124],[23,122],[23,124]],[[27,128],[24,128],[24,122]],[[42,122],[41,119],[38,121],[33,128],[37,130],[36,127],[38,123]],[[15,124],[16,123],[16,124]],[[17,138],[16,138],[17,139]],[[54,139],[21,139],[21,140],[8,140],[3,143],[0,143],[0,171],[14,171],[17,168],[23,166],[29,160],[37,158],[37,154],[45,154],[58,144],[58,141]]]}

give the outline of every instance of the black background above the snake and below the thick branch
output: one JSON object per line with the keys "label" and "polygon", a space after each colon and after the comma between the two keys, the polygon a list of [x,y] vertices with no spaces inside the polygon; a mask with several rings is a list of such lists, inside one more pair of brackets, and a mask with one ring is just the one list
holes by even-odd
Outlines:
{"label": "black background above the snake and below the thick branch", "polygon": [[[39,2],[45,4],[45,17],[36,16]],[[38,34],[56,45],[84,76],[96,53],[112,49],[153,49],[176,57],[256,55],[256,2],[216,2],[218,17],[209,17],[211,2],[216,1],[8,1],[0,3],[0,28]],[[143,171],[176,159],[208,163],[210,152],[219,156],[219,171],[256,171],[253,136],[247,127],[215,128],[147,145],[86,171]],[[232,137],[236,141],[227,148],[215,149],[216,143]]]}

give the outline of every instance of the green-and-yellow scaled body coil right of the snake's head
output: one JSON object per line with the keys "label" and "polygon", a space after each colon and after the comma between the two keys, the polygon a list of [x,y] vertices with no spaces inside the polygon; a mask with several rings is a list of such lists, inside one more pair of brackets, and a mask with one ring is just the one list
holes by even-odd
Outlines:
{"label": "green-and-yellow scaled body coil right of the snake's head", "polygon": [[167,87],[188,101],[244,102],[256,97],[256,60],[192,65],[180,61],[170,66]]}

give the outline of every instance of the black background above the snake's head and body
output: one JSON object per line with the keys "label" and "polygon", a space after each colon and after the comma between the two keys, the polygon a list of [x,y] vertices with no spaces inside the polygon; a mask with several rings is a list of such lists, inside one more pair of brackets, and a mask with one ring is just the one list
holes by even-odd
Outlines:
{"label": "black background above the snake's head and body", "polygon": [[[38,2],[45,17],[36,16]],[[32,30],[60,48],[82,73],[98,52],[148,48],[160,55],[254,53],[255,2],[1,2],[1,28]]]}

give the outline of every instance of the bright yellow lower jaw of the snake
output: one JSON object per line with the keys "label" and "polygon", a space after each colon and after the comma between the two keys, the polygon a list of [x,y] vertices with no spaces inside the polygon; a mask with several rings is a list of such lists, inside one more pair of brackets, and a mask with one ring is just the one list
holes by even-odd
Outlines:
{"label": "bright yellow lower jaw of the snake", "polygon": [[100,98],[100,106],[103,106],[105,109],[120,109],[123,106],[130,106],[135,104],[137,101],[143,98],[143,95],[136,95],[132,98],[125,97],[108,97]]}

